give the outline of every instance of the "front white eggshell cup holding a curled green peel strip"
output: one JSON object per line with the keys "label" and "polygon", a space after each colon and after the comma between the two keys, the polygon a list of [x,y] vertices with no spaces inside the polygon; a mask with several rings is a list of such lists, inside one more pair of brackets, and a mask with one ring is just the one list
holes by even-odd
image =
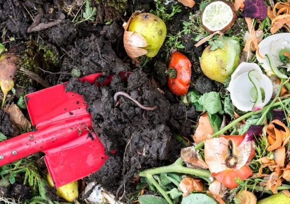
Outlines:
{"label": "front white eggshell cup holding a curled green peel strip", "polygon": [[[267,75],[261,73],[260,86],[265,91],[265,100],[262,105],[265,106],[271,99],[273,85]],[[240,74],[232,83],[230,96],[233,105],[241,111],[252,111],[254,98],[251,95],[251,89],[254,87],[248,77],[248,72]]]}

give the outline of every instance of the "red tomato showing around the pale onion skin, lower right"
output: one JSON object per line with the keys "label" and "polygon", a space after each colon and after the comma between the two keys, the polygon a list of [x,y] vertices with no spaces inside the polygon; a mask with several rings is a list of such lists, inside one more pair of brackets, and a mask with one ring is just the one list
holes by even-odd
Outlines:
{"label": "red tomato showing around the pale onion skin, lower right", "polygon": [[[227,140],[232,140],[233,147],[236,148],[244,139],[246,135],[229,135],[222,136]],[[255,149],[252,148],[249,160],[253,159],[255,156]],[[221,182],[225,187],[236,188],[238,184],[235,182],[236,178],[245,181],[249,176],[253,174],[251,168],[248,165],[244,165],[240,169],[236,170],[235,168],[227,168],[224,171],[219,173],[212,173],[216,180]]]}

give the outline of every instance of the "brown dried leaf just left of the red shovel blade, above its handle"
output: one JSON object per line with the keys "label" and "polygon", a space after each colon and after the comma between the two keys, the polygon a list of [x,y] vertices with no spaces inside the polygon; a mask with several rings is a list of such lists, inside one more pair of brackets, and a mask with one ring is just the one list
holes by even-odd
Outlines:
{"label": "brown dried leaf just left of the red shovel blade, above its handle", "polygon": [[10,115],[10,120],[20,127],[22,130],[31,129],[31,124],[28,119],[20,111],[16,104],[5,107],[5,112]]}

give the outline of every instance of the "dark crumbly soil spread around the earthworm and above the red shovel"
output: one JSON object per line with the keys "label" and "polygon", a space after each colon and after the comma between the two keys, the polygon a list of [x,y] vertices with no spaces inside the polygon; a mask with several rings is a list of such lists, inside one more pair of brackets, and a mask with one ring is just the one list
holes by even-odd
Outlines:
{"label": "dark crumbly soil spread around the earthworm and above the red shovel", "polygon": [[[122,24],[128,20],[132,11],[149,12],[155,9],[153,0],[129,0],[122,8],[108,5],[108,2],[114,1],[94,2],[92,6],[98,11],[95,22],[84,22],[76,26],[71,23],[74,16],[69,14],[68,10],[75,7],[71,12],[76,14],[81,6],[78,2],[81,1],[0,0],[0,34],[3,35],[3,42],[15,37],[14,41],[7,44],[10,52],[22,56],[21,67],[37,72],[50,85],[69,81],[66,90],[83,95],[89,105],[93,131],[99,136],[109,155],[105,165],[85,180],[95,180],[113,193],[123,193],[122,188],[125,184],[128,192],[132,188],[131,179],[137,176],[141,169],[172,163],[179,157],[181,144],[175,140],[174,135],[181,134],[189,138],[199,113],[195,107],[181,103],[178,97],[168,90],[165,75],[168,61],[162,57],[165,56],[163,49],[142,68],[133,65],[126,55]],[[171,7],[168,8],[170,12]],[[181,20],[188,21],[189,12],[197,9],[198,5],[193,9],[182,7],[182,12],[166,22],[168,33],[176,34],[182,30]],[[49,23],[51,19],[58,20],[61,14],[65,15],[65,19],[59,20],[57,25],[41,31],[27,32],[33,24],[30,15],[38,15],[39,23]],[[111,20],[112,23],[105,24],[105,20]],[[6,33],[2,33],[4,27]],[[199,56],[205,45],[196,48],[192,38],[192,34],[183,35],[182,43],[185,48],[179,50],[192,64],[191,88],[195,86],[200,93],[219,90],[220,84],[206,78],[200,69]],[[49,46],[52,57],[45,58],[47,55],[45,52],[38,52],[37,46],[29,49],[29,43],[35,46]],[[30,52],[31,50],[33,52]],[[38,59],[41,63],[37,66],[27,66]],[[52,59],[57,61],[51,61]],[[45,60],[53,63],[53,66],[50,63],[45,64]],[[72,78],[70,72],[74,68],[81,70],[81,77],[102,72],[103,77],[98,79],[101,84],[111,74],[114,76],[109,86],[96,87]],[[131,73],[127,80],[119,75],[124,72]],[[26,75],[24,78],[27,80],[22,81],[25,93],[43,88]],[[20,78],[18,82],[21,82]],[[144,106],[157,106],[157,109],[143,110],[125,96],[119,96],[118,100],[114,101],[113,96],[118,91],[130,94]],[[9,116],[1,110],[0,116],[0,132],[7,136],[12,135]],[[113,150],[117,150],[115,154],[111,153]],[[29,192],[22,188],[25,187],[14,185],[13,190],[9,189],[9,194],[18,199],[20,190]]]}

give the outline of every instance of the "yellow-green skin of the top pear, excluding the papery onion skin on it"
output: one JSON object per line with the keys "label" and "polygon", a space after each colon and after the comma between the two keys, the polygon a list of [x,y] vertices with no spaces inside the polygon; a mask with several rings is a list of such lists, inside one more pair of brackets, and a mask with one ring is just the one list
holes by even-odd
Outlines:
{"label": "yellow-green skin of the top pear, excluding the papery onion skin on it", "polygon": [[155,57],[166,38],[166,25],[161,18],[152,13],[141,13],[134,17],[128,31],[141,34],[147,40],[146,56]]}

